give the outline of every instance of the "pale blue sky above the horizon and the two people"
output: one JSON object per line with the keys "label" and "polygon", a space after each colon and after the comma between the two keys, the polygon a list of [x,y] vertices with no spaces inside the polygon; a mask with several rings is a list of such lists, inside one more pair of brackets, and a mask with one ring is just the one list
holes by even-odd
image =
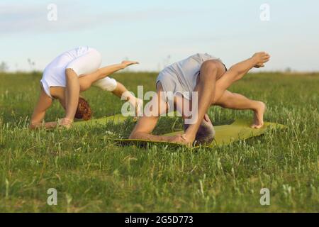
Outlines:
{"label": "pale blue sky above the horizon and the two people", "polygon": [[[57,21],[47,20],[48,4]],[[259,18],[269,4],[270,21]],[[133,70],[160,70],[167,62],[208,52],[230,65],[266,50],[264,70],[319,71],[319,1],[305,0],[1,0],[0,62],[36,70],[65,50],[89,45],[103,65],[126,58]]]}

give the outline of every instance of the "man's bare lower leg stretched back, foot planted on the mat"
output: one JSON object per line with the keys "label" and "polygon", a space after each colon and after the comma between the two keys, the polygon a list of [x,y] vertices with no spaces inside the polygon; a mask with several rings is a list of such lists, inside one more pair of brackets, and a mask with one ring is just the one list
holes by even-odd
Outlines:
{"label": "man's bare lower leg stretched back, foot planted on the mat", "polygon": [[254,121],[251,127],[262,128],[262,126],[264,126],[264,111],[266,110],[266,105],[262,101],[254,101],[246,98],[242,94],[225,91],[223,96],[221,96],[214,105],[227,109],[250,109],[254,111]]}

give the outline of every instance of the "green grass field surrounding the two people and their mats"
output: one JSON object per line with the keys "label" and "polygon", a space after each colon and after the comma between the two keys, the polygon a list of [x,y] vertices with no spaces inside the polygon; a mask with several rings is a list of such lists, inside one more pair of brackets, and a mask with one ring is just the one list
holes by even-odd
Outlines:
{"label": "green grass field surrounding the two people and their mats", "polygon": [[[155,73],[116,74],[136,92],[155,89]],[[266,121],[286,131],[218,148],[134,146],[106,142],[127,137],[133,121],[96,128],[29,131],[40,74],[0,74],[0,211],[223,212],[319,211],[319,74],[249,74],[231,90],[266,102]],[[90,89],[94,117],[121,113],[122,102]],[[250,111],[211,108],[216,125],[251,118]],[[63,116],[59,104],[46,120]],[[181,128],[161,118],[155,133]],[[57,189],[57,206],[47,189]],[[259,192],[270,190],[270,206]]]}

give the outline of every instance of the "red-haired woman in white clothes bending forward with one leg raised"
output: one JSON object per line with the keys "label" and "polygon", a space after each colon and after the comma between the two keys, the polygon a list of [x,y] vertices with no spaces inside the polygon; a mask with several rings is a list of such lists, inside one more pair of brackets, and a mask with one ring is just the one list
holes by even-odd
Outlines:
{"label": "red-haired woman in white clothes bending forward with one leg raised", "polygon": [[[112,92],[118,97],[124,97],[133,106],[140,106],[141,100],[135,98],[123,84],[111,79],[108,75],[123,70],[138,62],[123,61],[118,65],[99,68],[101,54],[89,47],[79,47],[69,50],[53,60],[43,72],[41,91],[38,104],[35,106],[30,122],[30,128],[55,128],[72,126],[74,118],[91,118],[89,104],[79,96],[94,85]],[[53,99],[58,99],[65,109],[65,117],[60,122],[43,123],[45,111],[52,105]]]}

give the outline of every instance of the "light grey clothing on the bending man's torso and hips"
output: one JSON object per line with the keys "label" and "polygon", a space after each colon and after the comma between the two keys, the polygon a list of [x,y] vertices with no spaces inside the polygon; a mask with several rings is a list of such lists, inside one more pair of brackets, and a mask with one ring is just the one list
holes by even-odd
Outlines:
{"label": "light grey clothing on the bending man's torso and hips", "polygon": [[[191,92],[197,84],[197,77],[201,71],[201,65],[207,60],[218,60],[219,58],[206,54],[196,54],[184,60],[176,62],[164,68],[156,80],[161,82],[165,94],[176,96],[181,94],[184,98],[191,100]],[[223,62],[222,62],[223,63]],[[168,99],[169,106],[172,106],[171,99]]]}

